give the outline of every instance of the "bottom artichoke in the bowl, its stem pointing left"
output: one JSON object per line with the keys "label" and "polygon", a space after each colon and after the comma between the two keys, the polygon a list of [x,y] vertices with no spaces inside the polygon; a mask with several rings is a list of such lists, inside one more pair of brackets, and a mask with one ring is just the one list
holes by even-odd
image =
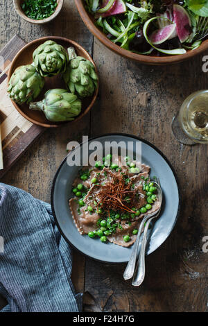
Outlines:
{"label": "bottom artichoke in the bowl, its stem pointing left", "polygon": [[31,102],[31,110],[42,110],[46,119],[53,122],[71,121],[80,114],[81,101],[67,89],[50,89],[40,102]]}

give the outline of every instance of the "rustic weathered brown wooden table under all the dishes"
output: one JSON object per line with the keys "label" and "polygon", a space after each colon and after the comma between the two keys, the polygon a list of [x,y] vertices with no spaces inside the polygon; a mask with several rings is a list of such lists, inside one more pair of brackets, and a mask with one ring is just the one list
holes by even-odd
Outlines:
{"label": "rustic weathered brown wooden table under all the dishes", "polygon": [[167,67],[120,58],[89,33],[72,0],[65,0],[60,16],[45,26],[19,19],[12,0],[2,0],[0,22],[1,48],[15,34],[26,42],[44,35],[68,37],[92,54],[101,77],[98,101],[87,117],[70,128],[46,130],[2,182],[49,202],[67,142],[106,132],[131,133],[152,142],[179,178],[180,216],[166,242],[147,257],[146,278],[139,289],[123,281],[125,266],[101,264],[74,252],[73,282],[85,293],[84,310],[206,311],[208,253],[202,252],[202,237],[208,235],[208,146],[183,146],[171,134],[171,120],[184,98],[208,89],[202,56]]}

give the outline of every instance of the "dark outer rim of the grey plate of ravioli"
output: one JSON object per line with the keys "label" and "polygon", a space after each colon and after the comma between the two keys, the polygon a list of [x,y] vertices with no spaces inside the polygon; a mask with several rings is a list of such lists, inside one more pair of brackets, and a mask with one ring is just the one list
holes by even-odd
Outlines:
{"label": "dark outer rim of the grey plate of ravioli", "polygon": [[[173,168],[171,162],[169,162],[168,158],[166,157],[166,155],[164,155],[164,153],[162,153],[162,151],[159,150],[159,148],[157,148],[155,145],[151,144],[148,140],[146,139],[143,139],[141,137],[138,137],[138,136],[135,136],[135,135],[130,135],[130,134],[127,134],[127,133],[122,133],[122,132],[111,132],[111,133],[107,133],[107,134],[102,134],[102,135],[98,135],[98,136],[95,136],[95,137],[90,137],[88,139],[88,141],[92,141],[96,138],[99,138],[99,137],[108,137],[108,136],[124,136],[124,137],[131,137],[131,138],[134,138],[134,139],[137,139],[141,142],[144,142],[145,144],[147,144],[148,146],[150,146],[151,148],[153,148],[157,153],[159,153],[159,155],[162,156],[162,158],[166,161],[166,163],[168,164],[168,166],[171,168],[171,171],[173,172],[173,175],[174,175],[174,178],[175,178],[175,182],[176,182],[176,185],[177,185],[177,190],[178,190],[178,207],[177,207],[177,214],[175,216],[175,221],[172,225],[172,228],[170,230],[170,232],[168,233],[168,236],[166,237],[166,239],[168,239],[168,237],[170,236],[171,232],[173,231],[173,228],[175,227],[175,224],[177,222],[177,218],[180,214],[180,207],[181,207],[181,191],[180,191],[180,186],[179,186],[179,182],[178,182],[178,178],[177,178],[177,174],[175,173],[175,169]],[[85,141],[83,141],[82,143],[79,144],[79,146],[83,145],[85,143]],[[76,148],[73,148],[72,151],[74,151]],[[54,209],[54,205],[53,205],[53,196],[54,196],[54,189],[55,189],[55,182],[58,178],[58,174],[60,173],[60,169],[62,168],[63,164],[65,163],[65,161],[67,160],[67,156],[66,155],[64,157],[64,159],[62,160],[62,162],[60,163],[60,166],[58,167],[58,170],[56,171],[55,175],[54,175],[54,178],[53,178],[53,183],[52,183],[52,186],[51,186],[51,210],[52,210],[52,214],[53,214],[53,217],[55,219],[55,225],[57,225],[58,227],[58,230],[61,234],[61,236],[64,238],[65,241],[67,241],[67,243],[69,243],[69,245],[75,249],[76,251],[80,252],[81,255],[84,255],[85,257],[89,258],[89,259],[93,259],[94,261],[99,261],[103,264],[125,264],[127,263],[128,261],[104,261],[104,260],[101,260],[101,259],[96,259],[92,256],[89,256],[87,254],[85,254],[83,251],[79,250],[78,248],[76,248],[76,246],[74,246],[71,241],[65,236],[64,232],[62,231],[62,229],[60,228],[60,224],[58,223],[58,218],[56,217],[55,215],[55,209]],[[163,245],[163,243],[166,241],[166,239],[164,239],[164,241],[157,247],[155,248],[155,250],[157,250],[160,246]],[[150,252],[148,255],[151,255],[153,252],[155,252],[155,250],[153,250],[152,252]]]}

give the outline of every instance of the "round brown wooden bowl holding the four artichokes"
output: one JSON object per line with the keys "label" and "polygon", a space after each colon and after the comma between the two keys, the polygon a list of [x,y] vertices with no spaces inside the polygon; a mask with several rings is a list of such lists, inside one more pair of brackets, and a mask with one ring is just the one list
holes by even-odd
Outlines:
{"label": "round brown wooden bowl holding the four artichokes", "polygon": [[[42,44],[48,40],[53,40],[53,41],[57,42],[58,44],[61,44],[62,46],[64,46],[65,49],[69,48],[69,46],[73,46],[77,55],[80,55],[80,56],[84,57],[85,59],[89,60],[90,62],[92,62],[92,64],[94,65],[94,67],[96,69],[96,73],[98,74],[98,70],[94,63],[94,60],[92,60],[89,53],[87,53],[87,51],[85,51],[85,49],[83,49],[82,46],[80,46],[76,42],[68,40],[67,38],[64,38],[64,37],[50,36],[50,37],[41,37],[37,40],[34,40],[34,41],[26,44],[26,46],[24,46],[17,53],[15,58],[12,60],[12,65],[8,72],[8,81],[10,80],[10,77],[12,76],[15,69],[17,69],[17,67],[19,67],[21,65],[30,65],[33,62],[33,51],[35,51],[35,49],[37,49],[37,46],[40,46],[40,44]],[[35,101],[41,101],[44,98],[45,92],[47,90],[53,89],[53,88],[67,89],[64,81],[62,80],[61,75],[57,75],[57,76],[53,76],[53,77],[46,77],[44,88],[42,89],[42,92],[40,93],[40,95],[37,98],[35,98]],[[19,113],[24,118],[26,118],[28,121],[31,121],[32,123],[35,123],[42,127],[59,127],[64,123],[73,123],[75,121],[82,119],[82,117],[84,117],[84,115],[87,114],[87,112],[89,112],[89,110],[92,108],[92,105],[94,105],[97,95],[98,95],[98,87],[97,87],[96,91],[94,92],[93,96],[84,98],[82,100],[82,111],[81,111],[80,115],[78,115],[78,117],[76,119],[74,119],[73,121],[64,121],[64,122],[51,122],[46,119],[43,112],[30,110],[28,104],[24,103],[22,105],[19,105],[19,104],[15,103],[14,101],[12,101],[12,100],[11,101],[12,101],[13,105],[15,106],[15,108],[17,109],[17,111],[19,111]]]}

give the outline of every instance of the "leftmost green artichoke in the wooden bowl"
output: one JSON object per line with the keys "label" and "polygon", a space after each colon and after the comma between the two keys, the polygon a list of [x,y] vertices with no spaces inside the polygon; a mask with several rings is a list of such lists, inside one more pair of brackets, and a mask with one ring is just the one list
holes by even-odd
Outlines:
{"label": "leftmost green artichoke in the wooden bowl", "polygon": [[40,76],[32,65],[18,67],[12,74],[8,93],[10,98],[18,104],[30,103],[44,87],[44,78]]}

